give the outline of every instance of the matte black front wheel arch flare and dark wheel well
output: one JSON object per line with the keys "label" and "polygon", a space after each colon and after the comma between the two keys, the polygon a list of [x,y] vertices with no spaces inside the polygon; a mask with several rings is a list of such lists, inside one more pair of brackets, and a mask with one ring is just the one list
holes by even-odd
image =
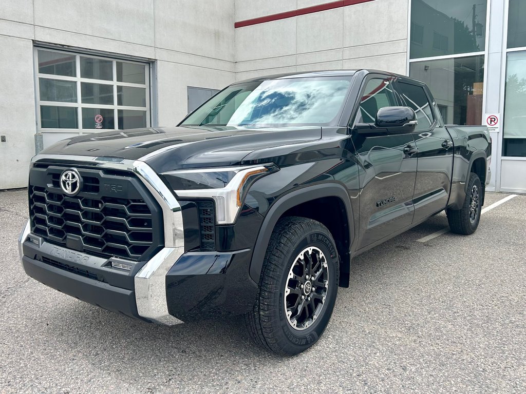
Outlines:
{"label": "matte black front wheel arch flare and dark wheel well", "polygon": [[[337,204],[330,204],[331,202]],[[324,210],[312,210],[318,204],[330,206],[330,214],[323,214],[327,212]],[[340,214],[335,215],[336,212],[340,212]],[[272,203],[265,215],[254,246],[249,269],[250,277],[256,283],[259,283],[270,236],[279,219],[285,216],[308,217],[319,221],[329,229],[332,237],[335,239],[340,255],[339,285],[348,287],[350,272],[349,251],[355,234],[354,219],[348,191],[343,185],[338,183],[321,183],[296,189]]]}

